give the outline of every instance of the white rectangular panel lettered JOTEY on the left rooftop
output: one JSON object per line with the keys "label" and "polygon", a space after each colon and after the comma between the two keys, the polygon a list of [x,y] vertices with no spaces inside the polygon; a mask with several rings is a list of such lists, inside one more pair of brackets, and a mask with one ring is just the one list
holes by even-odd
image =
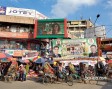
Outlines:
{"label": "white rectangular panel lettered JOTEY on the left rooftop", "polygon": [[7,7],[6,8],[6,15],[24,16],[24,17],[33,17],[34,18],[35,17],[35,10]]}

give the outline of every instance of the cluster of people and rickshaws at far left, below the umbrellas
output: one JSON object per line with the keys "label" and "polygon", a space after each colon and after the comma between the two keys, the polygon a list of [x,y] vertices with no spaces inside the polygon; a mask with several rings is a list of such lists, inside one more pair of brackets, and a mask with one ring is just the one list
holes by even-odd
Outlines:
{"label": "cluster of people and rickshaws at far left, below the umbrellas", "polygon": [[26,81],[26,65],[12,65],[11,62],[9,63],[1,63],[0,64],[0,79],[7,80],[8,77],[12,78],[13,80],[20,80]]}

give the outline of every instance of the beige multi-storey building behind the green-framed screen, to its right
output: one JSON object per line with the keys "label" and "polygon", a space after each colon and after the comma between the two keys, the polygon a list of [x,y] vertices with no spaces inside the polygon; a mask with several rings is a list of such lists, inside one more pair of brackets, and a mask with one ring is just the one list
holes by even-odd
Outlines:
{"label": "beige multi-storey building behind the green-framed screen, to its right", "polygon": [[94,25],[90,20],[74,20],[68,21],[67,26],[70,38],[84,38],[84,30]]}

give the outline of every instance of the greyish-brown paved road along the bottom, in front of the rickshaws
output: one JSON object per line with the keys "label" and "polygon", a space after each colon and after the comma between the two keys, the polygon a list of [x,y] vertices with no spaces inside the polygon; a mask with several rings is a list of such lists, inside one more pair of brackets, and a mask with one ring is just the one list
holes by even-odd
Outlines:
{"label": "greyish-brown paved road along the bottom, in front of the rickshaws", "polygon": [[0,81],[0,89],[112,89],[112,83],[100,82],[98,85],[74,83],[73,86],[68,86],[66,83],[41,84],[31,80],[13,81],[12,83]]}

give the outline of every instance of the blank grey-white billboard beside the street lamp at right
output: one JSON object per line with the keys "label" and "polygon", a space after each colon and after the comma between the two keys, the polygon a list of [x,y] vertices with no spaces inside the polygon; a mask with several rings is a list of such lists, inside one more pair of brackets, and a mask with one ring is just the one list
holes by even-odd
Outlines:
{"label": "blank grey-white billboard beside the street lamp at right", "polygon": [[92,27],[89,29],[86,29],[84,31],[84,37],[90,38],[90,37],[101,37],[106,38],[106,31],[105,26],[98,26],[98,27]]}

